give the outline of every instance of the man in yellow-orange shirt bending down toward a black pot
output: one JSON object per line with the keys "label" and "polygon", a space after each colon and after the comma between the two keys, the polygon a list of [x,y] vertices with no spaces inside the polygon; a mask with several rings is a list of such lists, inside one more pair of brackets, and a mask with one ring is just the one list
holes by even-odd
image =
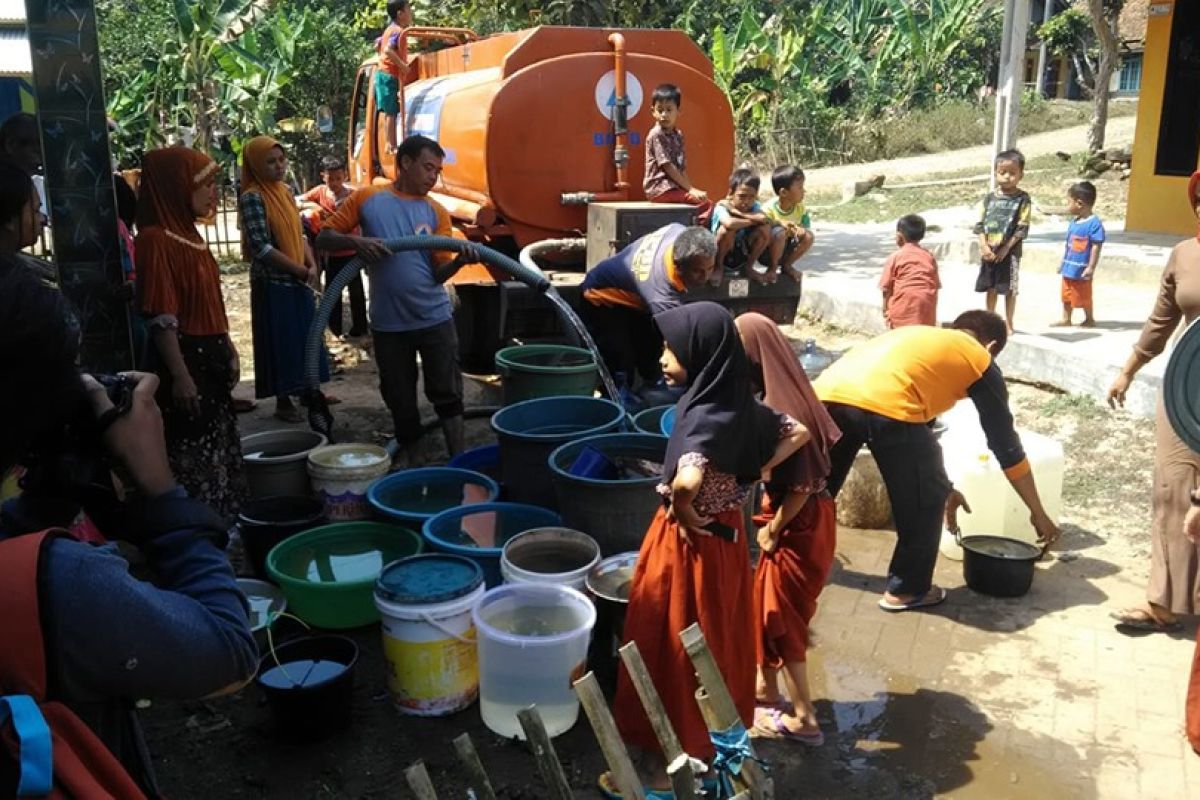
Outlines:
{"label": "man in yellow-orange shirt bending down toward a black pot", "polygon": [[1049,546],[1058,537],[1042,507],[1013,427],[1004,375],[994,361],[1007,343],[1003,319],[988,311],[968,311],[949,329],[898,327],[851,348],[814,383],[841,428],[841,439],[829,453],[829,492],[836,497],[864,444],[888,489],[896,547],[880,600],[884,610],[946,600],[946,590],[932,585],[942,515],[954,530],[958,510],[970,512],[971,507],[946,476],[942,449],[929,422],[960,399],[970,397],[979,410],[988,447],[1028,507],[1038,540]]}

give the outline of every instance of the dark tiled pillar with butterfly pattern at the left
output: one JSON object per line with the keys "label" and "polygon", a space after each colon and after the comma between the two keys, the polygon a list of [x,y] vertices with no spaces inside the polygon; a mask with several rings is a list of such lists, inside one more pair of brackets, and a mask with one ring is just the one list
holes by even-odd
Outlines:
{"label": "dark tiled pillar with butterfly pattern at the left", "polygon": [[92,0],[25,0],[59,287],[92,372],[133,367]]}

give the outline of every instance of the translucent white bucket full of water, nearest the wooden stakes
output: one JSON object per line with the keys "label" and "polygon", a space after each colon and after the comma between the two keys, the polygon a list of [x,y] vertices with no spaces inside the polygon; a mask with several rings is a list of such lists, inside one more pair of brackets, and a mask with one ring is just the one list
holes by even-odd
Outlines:
{"label": "translucent white bucket full of water, nearest the wooden stakes", "polygon": [[592,601],[569,587],[510,583],[488,590],[472,616],[484,724],[524,739],[517,711],[535,704],[547,734],[570,730],[580,715],[572,684],[583,675],[596,621]]}

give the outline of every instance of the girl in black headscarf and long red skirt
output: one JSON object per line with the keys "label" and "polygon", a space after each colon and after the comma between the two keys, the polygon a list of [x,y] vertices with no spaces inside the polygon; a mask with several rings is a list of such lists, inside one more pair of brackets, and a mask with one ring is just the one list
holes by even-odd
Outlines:
{"label": "girl in black headscarf and long red skirt", "polygon": [[[750,727],[755,650],[746,637],[751,590],[742,507],[763,470],[803,446],[808,433],[755,401],[750,365],[725,308],[695,302],[654,320],[666,342],[662,373],[667,383],[688,391],[676,407],[659,486],[664,505],[638,554],[625,637],[637,643],[684,750],[712,758],[696,704],[696,676],[679,632],[700,622]],[[625,741],[653,760],[649,786],[668,786],[658,739],[624,670],[613,711]],[[607,775],[600,784],[610,796],[619,796]]]}

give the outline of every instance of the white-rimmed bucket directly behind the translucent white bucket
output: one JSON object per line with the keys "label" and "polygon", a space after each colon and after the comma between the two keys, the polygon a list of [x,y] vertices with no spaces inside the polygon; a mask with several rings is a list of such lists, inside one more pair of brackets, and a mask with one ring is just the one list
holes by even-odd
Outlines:
{"label": "white-rimmed bucket directly behind the translucent white bucket", "polygon": [[588,572],[600,563],[600,545],[570,528],[534,528],[504,545],[504,583],[557,583],[583,591]]}

